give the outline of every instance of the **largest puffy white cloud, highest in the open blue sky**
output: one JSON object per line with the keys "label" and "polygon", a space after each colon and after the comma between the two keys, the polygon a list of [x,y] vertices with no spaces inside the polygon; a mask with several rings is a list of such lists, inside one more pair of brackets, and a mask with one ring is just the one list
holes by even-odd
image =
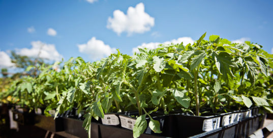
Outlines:
{"label": "largest puffy white cloud, highest in the open blue sky", "polygon": [[139,3],[136,7],[129,7],[127,14],[120,10],[113,12],[113,18],[108,17],[107,28],[112,29],[117,35],[127,32],[128,35],[133,33],[144,33],[155,25],[155,18],[150,17],[144,12],[144,4]]}

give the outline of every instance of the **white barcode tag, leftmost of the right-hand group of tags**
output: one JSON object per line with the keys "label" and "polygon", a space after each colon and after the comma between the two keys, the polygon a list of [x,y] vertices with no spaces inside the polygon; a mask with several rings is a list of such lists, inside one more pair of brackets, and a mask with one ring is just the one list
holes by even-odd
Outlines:
{"label": "white barcode tag, leftmost of the right-hand group of tags", "polygon": [[203,122],[202,130],[203,131],[211,131],[211,130],[219,128],[220,127],[220,119],[221,119],[221,117],[205,119]]}

